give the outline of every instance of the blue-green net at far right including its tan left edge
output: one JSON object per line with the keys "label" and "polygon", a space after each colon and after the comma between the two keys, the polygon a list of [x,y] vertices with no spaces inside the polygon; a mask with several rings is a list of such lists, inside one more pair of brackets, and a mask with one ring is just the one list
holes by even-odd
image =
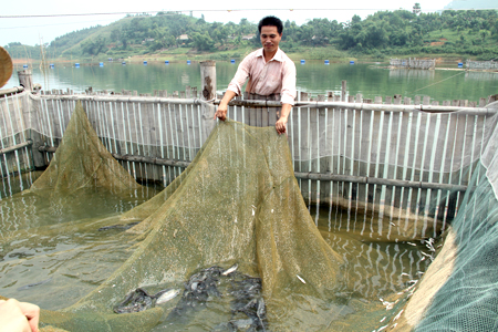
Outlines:
{"label": "blue-green net at far right including its tan left edge", "polygon": [[[497,103],[488,105],[491,108]],[[487,120],[480,160],[444,247],[416,287],[395,331],[496,331],[498,328],[497,115]],[[398,315],[400,317],[400,315]]]}

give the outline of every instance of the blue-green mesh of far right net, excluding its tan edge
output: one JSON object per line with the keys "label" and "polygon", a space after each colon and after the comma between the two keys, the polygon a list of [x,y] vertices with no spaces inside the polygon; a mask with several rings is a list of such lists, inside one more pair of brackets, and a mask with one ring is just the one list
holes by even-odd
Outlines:
{"label": "blue-green mesh of far right net, excluding its tan edge", "polygon": [[[490,105],[498,107],[498,103]],[[497,115],[478,168],[452,227],[455,260],[416,331],[495,331],[498,328]]]}

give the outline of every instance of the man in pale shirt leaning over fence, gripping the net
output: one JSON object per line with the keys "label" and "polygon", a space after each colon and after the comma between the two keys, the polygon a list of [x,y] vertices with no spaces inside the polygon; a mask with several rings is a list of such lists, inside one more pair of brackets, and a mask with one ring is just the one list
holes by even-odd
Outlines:
{"label": "man in pale shirt leaning over fence, gripping the net", "polygon": [[219,103],[215,118],[225,121],[228,103],[241,94],[242,85],[249,77],[246,91],[250,94],[267,96],[280,94],[282,108],[274,124],[279,134],[286,133],[287,120],[295,98],[295,65],[279,48],[283,24],[276,17],[266,17],[258,24],[262,49],[247,55],[228,85]]}

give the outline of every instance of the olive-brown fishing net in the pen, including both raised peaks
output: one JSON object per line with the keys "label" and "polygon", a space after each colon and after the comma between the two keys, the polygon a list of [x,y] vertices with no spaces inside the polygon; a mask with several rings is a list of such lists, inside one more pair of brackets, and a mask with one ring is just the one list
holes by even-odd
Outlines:
{"label": "olive-brown fishing net in the pen, including both raised peaks", "polygon": [[[138,189],[100,144],[77,105],[50,167],[29,194],[74,201],[85,195],[129,195]],[[246,318],[251,312],[258,315],[260,330],[322,330],[347,313],[342,312],[344,305],[330,301],[342,279],[343,259],[313,224],[293,176],[286,136],[273,127],[220,123],[189,167],[163,193],[118,219],[87,225],[132,219],[145,220],[127,232],[133,238],[127,241],[135,243],[131,257],[76,303],[42,310],[45,331],[151,331],[159,321],[163,329],[175,324],[175,330],[229,331],[234,325],[226,323],[234,319],[234,305]],[[221,274],[234,264],[235,272]],[[184,303],[184,295],[141,312],[114,311],[137,289],[183,290],[190,278],[194,291],[197,283],[191,276],[208,271],[217,271],[212,278],[219,295],[199,302],[204,310]],[[261,290],[262,297],[253,298],[258,302],[251,302],[255,305],[237,304],[229,295],[251,289],[258,294]],[[219,320],[206,320],[214,312],[221,312]],[[246,321],[238,319],[235,329],[251,326]]]}

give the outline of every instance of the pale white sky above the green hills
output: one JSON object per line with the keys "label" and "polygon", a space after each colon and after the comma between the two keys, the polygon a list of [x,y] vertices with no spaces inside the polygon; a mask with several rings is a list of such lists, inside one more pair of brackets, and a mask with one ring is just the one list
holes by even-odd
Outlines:
{"label": "pale white sky above the green hills", "polygon": [[[174,2],[174,3],[172,3]],[[415,2],[421,3],[423,12],[442,10],[452,0],[347,0],[347,1],[102,1],[84,2],[68,0],[23,0],[8,1],[0,11],[0,45],[21,42],[27,45],[50,43],[56,37],[94,25],[107,25],[126,13],[158,11],[181,11],[208,22],[232,21],[238,23],[246,18],[257,23],[262,17],[273,14],[282,21],[295,21],[299,25],[313,18],[326,18],[339,22],[350,21],[354,14],[362,19],[381,10],[412,10]],[[83,6],[84,4],[84,6]],[[280,4],[280,6],[279,6]]]}

